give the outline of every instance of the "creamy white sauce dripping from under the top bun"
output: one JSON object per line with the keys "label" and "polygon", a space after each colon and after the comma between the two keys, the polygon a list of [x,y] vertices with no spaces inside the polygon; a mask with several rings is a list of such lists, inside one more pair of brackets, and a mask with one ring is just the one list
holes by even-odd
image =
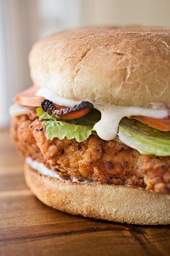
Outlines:
{"label": "creamy white sauce dripping from under the top bun", "polygon": [[[53,101],[60,106],[73,106],[80,103],[80,101],[71,101],[65,98],[60,98],[48,88],[41,88],[36,95],[48,98],[50,101]],[[151,103],[151,108],[93,104],[94,107],[101,112],[101,119],[94,125],[94,129],[102,140],[115,139],[120,120],[125,116],[149,116],[161,119],[169,115],[168,110],[162,108],[161,103]]]}

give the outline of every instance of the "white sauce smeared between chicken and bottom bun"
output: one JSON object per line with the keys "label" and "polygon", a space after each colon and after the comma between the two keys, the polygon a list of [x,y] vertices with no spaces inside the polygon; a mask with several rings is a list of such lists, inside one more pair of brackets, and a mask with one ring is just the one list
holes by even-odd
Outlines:
{"label": "white sauce smeared between chicken and bottom bun", "polygon": [[[43,174],[45,176],[50,176],[56,179],[60,179],[63,180],[61,178],[61,176],[59,176],[55,171],[47,168],[43,163],[37,162],[35,160],[33,160],[32,158],[26,158],[26,163],[29,164],[29,166],[31,166],[33,169],[35,169],[36,171],[38,171],[40,174]],[[93,181],[89,181],[87,179],[84,179],[83,182],[80,182],[78,179],[76,179],[75,177],[71,176],[70,177],[71,182],[79,182],[79,183],[99,183],[99,182],[93,182]]]}

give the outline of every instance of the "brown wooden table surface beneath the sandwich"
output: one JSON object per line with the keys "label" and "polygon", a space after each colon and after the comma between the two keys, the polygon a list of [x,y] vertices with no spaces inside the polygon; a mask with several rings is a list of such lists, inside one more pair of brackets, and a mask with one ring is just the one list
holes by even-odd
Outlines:
{"label": "brown wooden table surface beneath the sandwich", "polygon": [[43,205],[24,183],[23,159],[0,132],[0,255],[170,255],[170,226],[94,221]]}

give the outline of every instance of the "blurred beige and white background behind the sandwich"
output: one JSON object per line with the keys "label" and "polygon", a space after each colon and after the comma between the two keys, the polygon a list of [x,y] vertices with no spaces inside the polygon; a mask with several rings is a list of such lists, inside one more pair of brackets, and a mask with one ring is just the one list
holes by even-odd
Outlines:
{"label": "blurred beige and white background behind the sandwich", "polygon": [[27,55],[45,35],[81,25],[170,27],[169,0],[0,0],[0,128],[14,95],[32,85]]}

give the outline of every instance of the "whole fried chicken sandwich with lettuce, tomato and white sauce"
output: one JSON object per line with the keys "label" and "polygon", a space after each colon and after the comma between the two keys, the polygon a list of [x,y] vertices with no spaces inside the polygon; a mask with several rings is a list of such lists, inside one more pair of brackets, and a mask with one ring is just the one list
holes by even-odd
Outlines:
{"label": "whole fried chicken sandwich with lettuce, tomato and white sauce", "polygon": [[83,27],[29,56],[33,86],[10,108],[25,179],[46,205],[170,223],[170,30]]}

